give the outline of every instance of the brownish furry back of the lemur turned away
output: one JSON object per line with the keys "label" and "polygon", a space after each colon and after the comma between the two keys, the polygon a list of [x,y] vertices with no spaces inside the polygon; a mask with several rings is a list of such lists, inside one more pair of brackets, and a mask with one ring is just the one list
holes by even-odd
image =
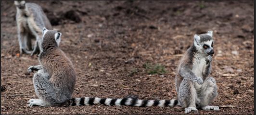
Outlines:
{"label": "brownish furry back of the lemur turned away", "polygon": [[76,83],[76,72],[64,52],[59,48],[47,50],[39,55],[39,61],[43,69],[48,70],[49,81],[62,93],[71,97]]}

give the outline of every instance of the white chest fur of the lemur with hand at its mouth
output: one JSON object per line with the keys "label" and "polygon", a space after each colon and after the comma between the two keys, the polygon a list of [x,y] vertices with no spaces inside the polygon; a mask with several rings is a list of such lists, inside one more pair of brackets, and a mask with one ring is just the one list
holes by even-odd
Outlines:
{"label": "white chest fur of the lemur with hand at its mouth", "polygon": [[[203,70],[205,68],[205,65],[205,58],[199,55],[195,55],[195,58],[193,60],[192,72],[195,74],[196,77],[200,77],[203,79]],[[199,85],[197,82],[194,82],[194,85],[196,89],[201,88],[201,85]]]}

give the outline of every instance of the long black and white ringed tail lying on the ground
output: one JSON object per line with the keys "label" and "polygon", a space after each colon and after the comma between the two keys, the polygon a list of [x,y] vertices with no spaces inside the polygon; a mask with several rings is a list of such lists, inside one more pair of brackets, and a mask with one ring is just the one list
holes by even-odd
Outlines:
{"label": "long black and white ringed tail lying on the ground", "polygon": [[111,99],[111,98],[98,98],[98,97],[82,97],[82,98],[72,98],[70,99],[71,106],[81,106],[81,105],[92,105],[92,104],[103,104],[103,105],[126,105],[126,106],[160,106],[160,107],[174,107],[179,106],[178,100],[140,100],[137,98],[122,98],[122,99]]}

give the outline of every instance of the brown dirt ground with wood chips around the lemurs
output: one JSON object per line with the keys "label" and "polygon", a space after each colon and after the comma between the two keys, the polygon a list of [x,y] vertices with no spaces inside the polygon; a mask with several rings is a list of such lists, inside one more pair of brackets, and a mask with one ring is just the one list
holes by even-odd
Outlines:
{"label": "brown dirt ground with wood chips around the lemurs", "polygon": [[[60,48],[72,60],[74,97],[177,99],[174,78],[194,34],[214,31],[213,76],[218,97],[234,105],[191,114],[254,114],[253,1],[33,1],[62,32]],[[32,107],[38,57],[19,56],[13,1],[1,2],[1,114],[184,114],[170,107]],[[149,75],[143,65],[162,64]],[[4,88],[4,89],[3,89]],[[19,96],[17,96],[19,94]]]}

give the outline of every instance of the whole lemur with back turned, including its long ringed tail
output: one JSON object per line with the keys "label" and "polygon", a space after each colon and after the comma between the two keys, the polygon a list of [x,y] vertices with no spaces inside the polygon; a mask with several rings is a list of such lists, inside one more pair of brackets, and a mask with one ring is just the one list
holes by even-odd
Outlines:
{"label": "whole lemur with back turned, including its long ringed tail", "polygon": [[61,33],[43,29],[42,52],[38,66],[30,66],[28,72],[38,71],[33,77],[36,95],[39,99],[30,99],[29,107],[39,106],[75,106],[89,104],[128,105],[128,106],[170,106],[179,105],[178,100],[139,100],[134,97],[122,99],[82,97],[72,98],[76,83],[76,72],[72,62],[58,47]]}

